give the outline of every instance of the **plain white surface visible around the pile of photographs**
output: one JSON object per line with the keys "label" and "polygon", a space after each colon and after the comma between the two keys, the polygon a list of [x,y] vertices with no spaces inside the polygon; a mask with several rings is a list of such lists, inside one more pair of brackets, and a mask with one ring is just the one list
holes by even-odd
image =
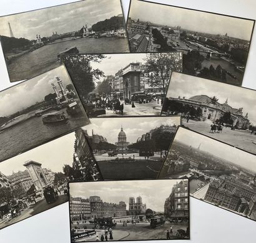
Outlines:
{"label": "plain white surface visible around the pile of photographs", "polygon": [[[0,16],[54,6],[72,0],[0,0]],[[256,19],[255,0],[151,0],[218,12],[233,16]],[[125,16],[129,0],[122,0]],[[163,18],[165,16],[162,16]],[[210,28],[210,26],[209,26]],[[250,47],[249,59],[244,75],[244,87],[256,89],[256,31]],[[0,90],[10,87],[2,49],[0,50]],[[237,97],[242,98],[242,97]],[[255,112],[255,111],[254,111]],[[0,114],[1,116],[1,114]],[[157,193],[157,189],[155,190]],[[157,194],[156,194],[157,196]],[[255,243],[256,222],[237,216],[205,202],[190,198],[190,230],[192,243]],[[37,216],[0,230],[0,243],[70,243],[68,203],[54,207]],[[160,241],[161,242],[161,241]],[[172,241],[175,242],[175,241]],[[176,241],[179,243],[188,241]]]}

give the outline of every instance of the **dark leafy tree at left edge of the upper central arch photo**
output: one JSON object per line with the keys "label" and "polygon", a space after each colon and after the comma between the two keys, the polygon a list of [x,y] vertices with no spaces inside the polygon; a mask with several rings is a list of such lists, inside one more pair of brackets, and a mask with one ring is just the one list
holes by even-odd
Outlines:
{"label": "dark leafy tree at left edge of the upper central arch photo", "polygon": [[66,65],[67,71],[76,87],[77,93],[82,102],[87,98],[88,93],[95,88],[94,81],[104,77],[104,72],[93,69],[91,62],[100,63],[105,55],[64,55],[62,62]]}

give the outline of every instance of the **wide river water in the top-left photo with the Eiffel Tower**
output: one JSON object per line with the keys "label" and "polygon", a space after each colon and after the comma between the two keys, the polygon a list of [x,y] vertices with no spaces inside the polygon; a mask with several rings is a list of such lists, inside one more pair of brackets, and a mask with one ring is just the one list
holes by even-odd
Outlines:
{"label": "wide river water in the top-left photo with the Eiffel Tower", "polygon": [[44,45],[12,60],[7,66],[11,82],[30,79],[58,67],[57,55],[71,47],[77,47],[81,54],[129,52],[127,39],[118,37],[83,38]]}

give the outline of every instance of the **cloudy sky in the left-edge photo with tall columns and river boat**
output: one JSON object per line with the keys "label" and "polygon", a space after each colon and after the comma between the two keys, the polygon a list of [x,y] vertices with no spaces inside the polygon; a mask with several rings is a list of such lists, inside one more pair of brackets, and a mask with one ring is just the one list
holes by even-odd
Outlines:
{"label": "cloudy sky in the left-edge photo with tall columns and river boat", "polygon": [[46,95],[54,92],[51,83],[57,83],[56,77],[60,77],[65,87],[71,83],[65,67],[61,66],[1,91],[0,116],[11,115],[22,108],[41,102]]}

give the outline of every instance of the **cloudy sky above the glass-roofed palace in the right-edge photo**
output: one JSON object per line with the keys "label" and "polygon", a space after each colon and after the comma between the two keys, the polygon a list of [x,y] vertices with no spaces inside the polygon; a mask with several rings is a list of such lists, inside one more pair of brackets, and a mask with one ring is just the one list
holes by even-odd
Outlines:
{"label": "cloudy sky above the glass-roofed palace in the right-edge photo", "polygon": [[207,95],[219,98],[219,103],[225,103],[228,98],[231,107],[243,107],[244,115],[248,112],[250,122],[256,125],[256,90],[175,72],[172,73],[169,87],[167,97],[172,98]]}

